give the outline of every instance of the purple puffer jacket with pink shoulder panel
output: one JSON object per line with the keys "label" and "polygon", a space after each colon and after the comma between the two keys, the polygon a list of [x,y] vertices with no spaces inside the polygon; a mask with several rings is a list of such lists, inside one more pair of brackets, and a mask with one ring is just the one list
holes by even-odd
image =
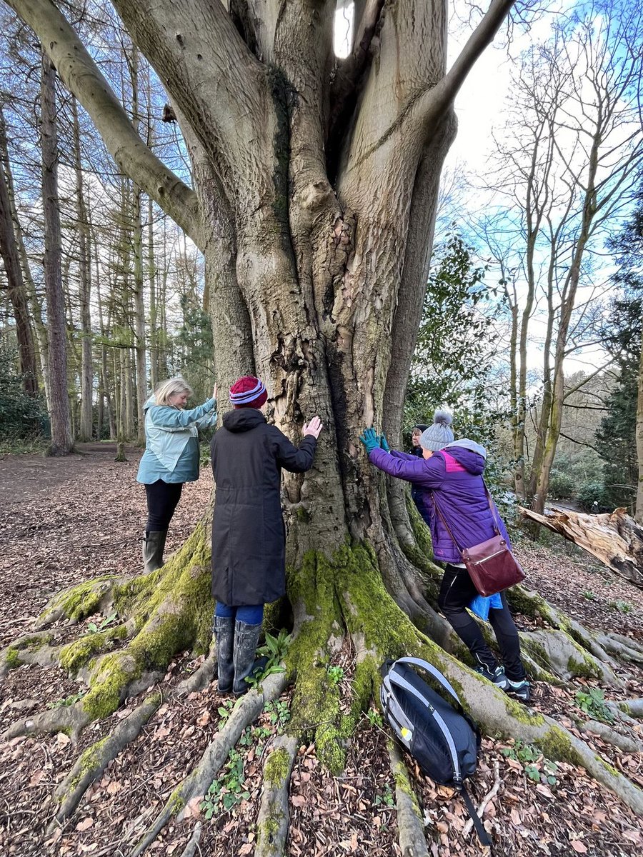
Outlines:
{"label": "purple puffer jacket with pink shoulder panel", "polygon": [[[389,476],[413,482],[418,510],[430,526],[436,560],[462,562],[458,548],[436,514],[434,496],[460,548],[471,548],[496,535],[482,479],[484,458],[478,452],[461,446],[449,446],[448,451],[443,449],[434,452],[430,458],[416,458],[407,452],[373,449],[369,453],[369,460]],[[509,543],[507,530],[495,504],[494,509],[500,531]]]}

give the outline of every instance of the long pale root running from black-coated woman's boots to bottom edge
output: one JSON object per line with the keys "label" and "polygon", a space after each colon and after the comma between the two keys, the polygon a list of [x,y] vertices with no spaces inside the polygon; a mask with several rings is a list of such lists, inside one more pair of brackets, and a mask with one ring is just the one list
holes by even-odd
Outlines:
{"label": "long pale root running from black-coated woman's boots to bottom edge", "polygon": [[261,685],[261,691],[250,690],[240,698],[225,722],[224,728],[206,747],[195,769],[174,789],[169,800],[159,812],[153,823],[147,828],[140,842],[132,851],[131,857],[143,854],[147,847],[163,830],[165,824],[195,797],[205,794],[214,775],[224,764],[231,748],[235,746],[243,729],[261,713],[270,699],[280,696],[285,690],[285,673],[268,675]]}

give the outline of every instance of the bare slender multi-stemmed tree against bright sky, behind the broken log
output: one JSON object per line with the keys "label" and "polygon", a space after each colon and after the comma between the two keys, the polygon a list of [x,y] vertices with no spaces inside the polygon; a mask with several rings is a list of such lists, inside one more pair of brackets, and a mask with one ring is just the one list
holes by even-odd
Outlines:
{"label": "bare slender multi-stemmed tree against bright sky, behind the broken log", "polygon": [[[512,92],[514,116],[498,142],[494,183],[521,212],[523,271],[517,288],[508,290],[517,328],[516,484],[538,512],[562,427],[564,361],[583,327],[579,289],[592,285],[592,253],[634,198],[643,162],[641,13],[617,14],[616,3],[604,15],[594,11],[557,24],[546,43],[523,57]],[[538,300],[546,307],[543,394],[529,481],[521,489],[526,347]]]}

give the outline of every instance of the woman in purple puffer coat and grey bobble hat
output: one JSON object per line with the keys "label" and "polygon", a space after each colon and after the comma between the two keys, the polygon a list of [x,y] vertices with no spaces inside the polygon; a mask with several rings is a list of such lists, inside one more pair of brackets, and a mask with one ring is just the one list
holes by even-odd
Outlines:
{"label": "woman in purple puffer coat and grey bobble hat", "polygon": [[[385,438],[378,438],[374,429],[366,429],[360,440],[366,446],[371,464],[390,476],[412,482],[418,511],[429,524],[436,560],[445,564],[438,605],[449,624],[466,644],[478,664],[478,673],[526,701],[529,682],[520,660],[520,640],[504,592],[490,599],[489,621],[496,634],[503,666],[485,643],[478,622],[467,613],[467,607],[478,596],[469,577],[460,551],[495,535],[494,513],[484,488],[483,473],[486,458],[484,446],[472,440],[455,440],[450,428],[453,417],[448,411],[436,411],[434,423],[420,437],[422,458],[407,452],[388,449]],[[380,446],[382,442],[382,446]],[[440,515],[446,520],[449,535]],[[497,513],[502,535],[508,538]],[[455,542],[454,542],[455,540]]]}

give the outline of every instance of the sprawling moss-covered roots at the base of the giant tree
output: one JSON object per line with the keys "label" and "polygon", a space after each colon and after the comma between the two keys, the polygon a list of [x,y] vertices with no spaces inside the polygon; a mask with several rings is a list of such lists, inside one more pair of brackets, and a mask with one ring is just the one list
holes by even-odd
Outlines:
{"label": "sprawling moss-covered roots at the base of the giant tree", "polygon": [[[445,650],[442,643],[446,622],[437,614],[434,614],[436,620],[427,618],[424,597],[422,609],[414,614],[416,620],[418,617],[421,620],[418,624],[422,630],[418,630],[388,595],[382,582],[381,562],[382,558],[368,545],[347,543],[332,559],[312,551],[305,554],[297,570],[289,573],[295,628],[286,666],[289,674],[297,673],[291,704],[291,737],[279,740],[278,748],[265,766],[258,857],[272,857],[283,848],[288,823],[288,782],[297,740],[301,736],[314,740],[322,763],[332,773],[339,774],[346,761],[346,742],[370,698],[377,696],[382,662],[388,657],[403,655],[422,656],[441,669],[487,734],[535,744],[548,758],[584,766],[634,812],[643,813],[643,792],[626,776],[553,719],[535,714],[508,698]],[[70,672],[80,673],[87,678],[90,689],[73,708],[26,718],[15,723],[4,737],[63,729],[76,738],[88,722],[108,716],[123,698],[152,684],[178,652],[207,649],[212,613],[208,565],[207,532],[205,525],[200,524],[183,548],[158,572],[128,581],[105,578],[91,585],[81,584],[57,596],[41,617],[45,624],[63,615],[70,621],[78,621],[95,613],[99,605],[115,609],[122,621],[62,647],[50,645],[50,632],[38,632],[17,640],[9,657],[5,650],[2,663],[7,668],[23,662],[21,658],[29,656],[27,652],[35,657],[39,650],[44,650],[42,657],[46,662],[58,660]],[[427,575],[433,573],[429,566],[425,572]],[[416,583],[412,575],[405,578],[405,591],[410,597],[418,595],[414,589]],[[613,671],[617,659],[640,662],[643,657],[643,647],[637,641],[619,635],[592,634],[536,593],[522,587],[516,590],[512,593],[514,605],[528,615],[542,616],[550,625],[550,628],[521,634],[526,660],[535,677],[567,682],[580,675],[618,685],[620,681]],[[52,618],[54,616],[57,619]],[[431,638],[424,636],[423,631],[430,629],[436,632],[441,644],[436,644],[433,633]],[[450,631],[449,635],[448,649],[461,653]],[[329,680],[328,674],[334,652],[340,650],[346,639],[355,650],[348,712],[346,705],[340,704],[343,702],[340,686]],[[108,650],[123,643],[122,649]],[[215,655],[211,649],[196,673],[171,692],[171,698],[201,689],[212,679],[214,669]],[[279,696],[287,677],[288,673],[268,676],[259,692],[250,691],[237,702],[201,761],[178,785],[145,831],[132,857],[142,854],[170,818],[181,812],[190,800],[206,793],[243,729],[258,716],[267,699]],[[158,694],[148,696],[112,734],[81,755],[57,790],[56,796],[61,803],[56,823],[74,812],[87,786],[102,774],[111,758],[134,740],[159,704]],[[619,703],[617,708],[616,704],[610,704],[610,707],[618,711],[626,728],[604,729],[602,724],[586,724],[581,728],[592,732],[601,728],[604,740],[633,752],[633,744],[637,741],[635,730],[631,737],[623,733],[632,728],[628,719],[643,716],[643,700]],[[636,742],[636,747],[640,749],[640,742]],[[399,761],[402,768],[397,770],[400,776],[396,773],[396,788],[400,847],[409,857],[411,854],[418,857],[426,853],[422,819],[417,800],[413,803],[406,769],[403,770],[404,765],[401,759]],[[393,756],[392,764],[394,767],[397,764]],[[423,847],[424,850],[418,850]],[[188,848],[186,854],[189,854]],[[194,840],[194,848],[198,848],[198,837]]]}

